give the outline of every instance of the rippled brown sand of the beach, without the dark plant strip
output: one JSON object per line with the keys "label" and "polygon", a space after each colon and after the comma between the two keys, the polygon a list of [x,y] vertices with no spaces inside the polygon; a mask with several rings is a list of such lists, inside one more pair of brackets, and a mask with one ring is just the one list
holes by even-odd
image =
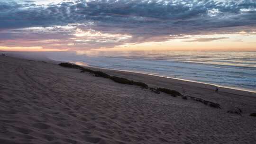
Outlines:
{"label": "rippled brown sand of the beach, without the dark plant strip", "polygon": [[[0,56],[0,144],[255,144],[256,93],[132,72],[101,70],[156,94],[57,64]],[[241,115],[227,113],[240,108]]]}

